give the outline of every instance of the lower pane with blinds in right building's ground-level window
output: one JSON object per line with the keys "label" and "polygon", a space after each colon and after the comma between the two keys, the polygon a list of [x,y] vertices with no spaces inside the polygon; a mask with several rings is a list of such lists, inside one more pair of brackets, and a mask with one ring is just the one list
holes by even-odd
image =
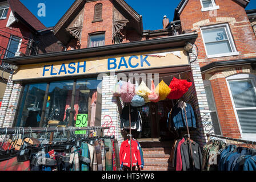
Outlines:
{"label": "lower pane with blinds in right building's ground-level window", "polygon": [[256,133],[256,110],[237,110],[243,133]]}

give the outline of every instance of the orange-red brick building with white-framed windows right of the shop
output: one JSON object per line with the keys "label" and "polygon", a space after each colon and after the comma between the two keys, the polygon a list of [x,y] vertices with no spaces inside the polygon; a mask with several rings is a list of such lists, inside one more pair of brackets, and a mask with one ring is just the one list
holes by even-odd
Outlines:
{"label": "orange-red brick building with white-framed windows right of the shop", "polygon": [[255,140],[255,10],[246,11],[248,3],[181,1],[174,20],[183,32],[198,33],[194,44],[215,133]]}

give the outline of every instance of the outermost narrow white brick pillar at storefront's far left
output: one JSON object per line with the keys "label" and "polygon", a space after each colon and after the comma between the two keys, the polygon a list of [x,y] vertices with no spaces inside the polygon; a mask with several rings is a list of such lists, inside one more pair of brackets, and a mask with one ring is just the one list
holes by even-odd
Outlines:
{"label": "outermost narrow white brick pillar at storefront's far left", "polygon": [[5,94],[3,95],[3,101],[0,108],[0,127],[3,127],[3,123],[5,122],[6,111],[9,106],[11,92],[13,92],[13,74],[9,75],[9,79],[6,85]]}

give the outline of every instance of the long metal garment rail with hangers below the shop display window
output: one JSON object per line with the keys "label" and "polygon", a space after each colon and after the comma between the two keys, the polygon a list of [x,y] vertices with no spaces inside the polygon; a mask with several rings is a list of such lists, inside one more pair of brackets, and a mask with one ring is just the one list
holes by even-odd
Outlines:
{"label": "long metal garment rail with hangers below the shop display window", "polygon": [[100,126],[92,126],[92,127],[3,127],[0,128],[0,135],[3,134],[15,134],[17,133],[17,129],[19,129],[19,133],[50,133],[57,131],[83,131],[83,130],[105,130],[110,129],[110,127],[100,127]]}

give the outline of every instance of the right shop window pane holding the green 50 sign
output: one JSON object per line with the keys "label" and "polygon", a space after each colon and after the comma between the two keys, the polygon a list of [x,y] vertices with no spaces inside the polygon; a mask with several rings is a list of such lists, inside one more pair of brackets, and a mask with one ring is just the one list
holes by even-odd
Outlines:
{"label": "right shop window pane holding the green 50 sign", "polygon": [[101,89],[101,80],[94,78],[77,81],[75,88],[74,123],[82,117],[87,118],[87,126],[100,126],[101,96],[97,88]]}

